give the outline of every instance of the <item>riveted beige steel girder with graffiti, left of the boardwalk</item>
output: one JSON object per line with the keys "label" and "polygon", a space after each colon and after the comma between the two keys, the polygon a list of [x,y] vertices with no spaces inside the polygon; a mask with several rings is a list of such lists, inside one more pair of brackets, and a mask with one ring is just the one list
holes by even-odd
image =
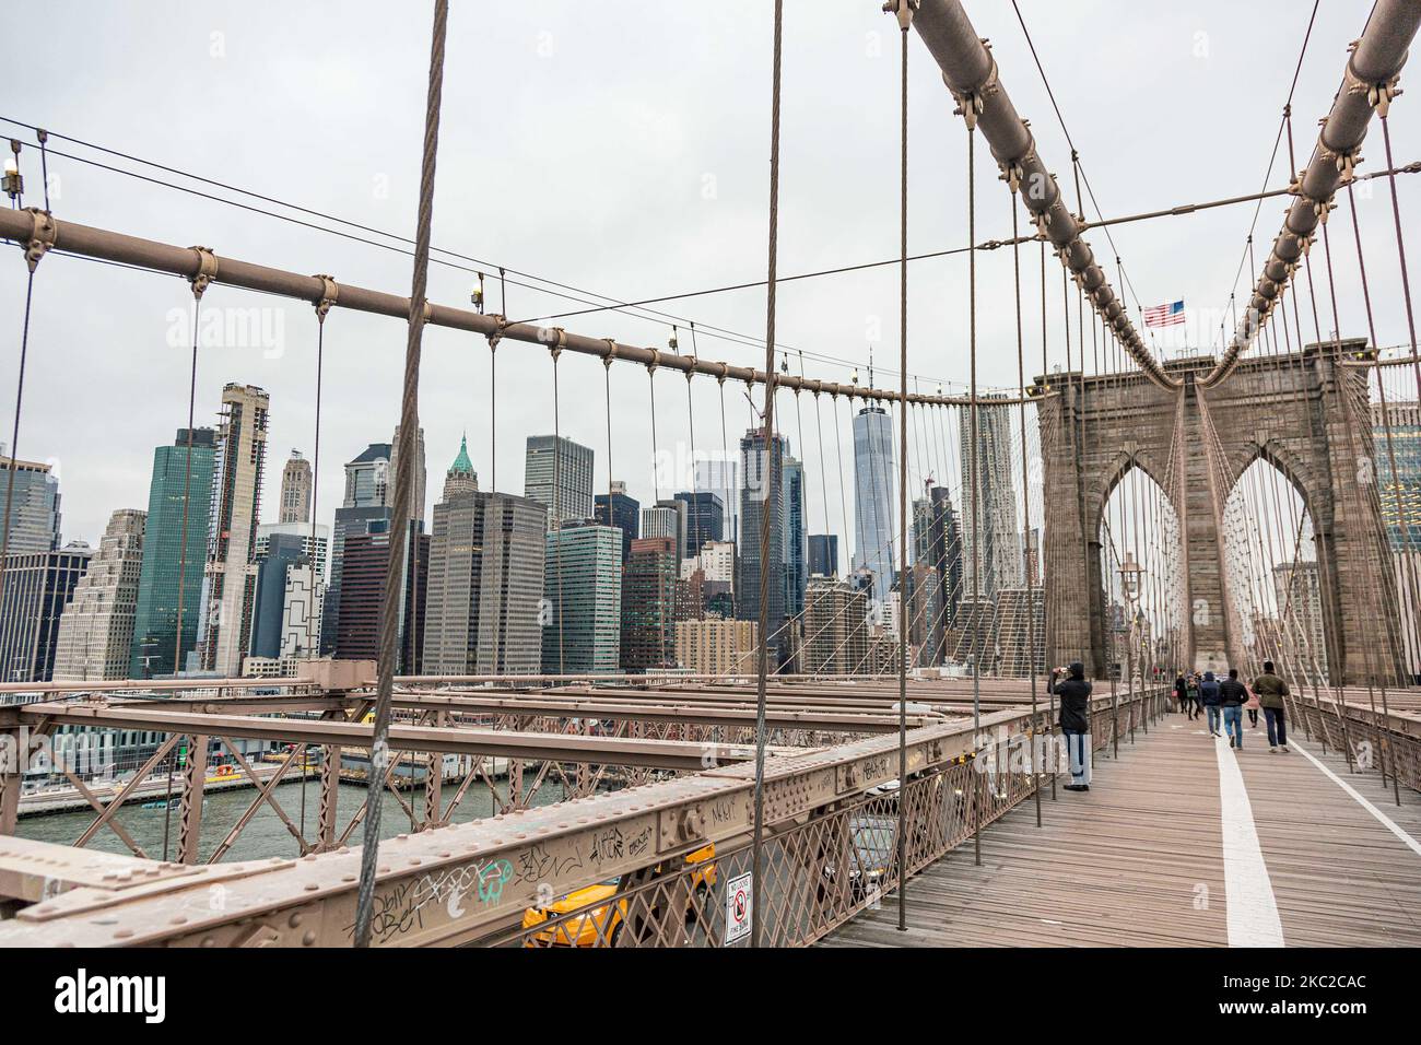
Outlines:
{"label": "riveted beige steel girder with graffiti, left of the boardwalk", "polygon": [[[1161,690],[1155,687],[1152,694]],[[1108,709],[1110,698],[1094,701]],[[982,717],[982,729],[1019,741],[1029,712]],[[786,754],[764,771],[766,823],[784,823],[895,779],[897,736],[872,736],[821,751]],[[976,751],[971,722],[915,729],[908,772],[945,766]],[[752,765],[524,809],[470,823],[402,835],[381,843],[374,943],[448,945],[477,940],[554,896],[631,874],[706,843],[743,839],[752,825]],[[70,891],[0,923],[0,945],[344,945],[355,918],[360,850],[298,860],[253,860],[192,869],[125,862],[121,881],[94,883],[68,864],[91,853],[0,839],[0,881],[47,864]],[[23,850],[23,852],[20,852]],[[210,893],[222,887],[223,904]]]}

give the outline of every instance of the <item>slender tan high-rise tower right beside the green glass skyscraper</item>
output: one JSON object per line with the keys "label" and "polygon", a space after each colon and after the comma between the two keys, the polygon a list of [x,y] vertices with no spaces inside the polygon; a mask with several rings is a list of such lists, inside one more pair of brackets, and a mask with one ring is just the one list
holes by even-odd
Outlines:
{"label": "slender tan high-rise tower right beside the green glass skyscraper", "polygon": [[242,658],[252,643],[257,583],[252,557],[261,510],[269,405],[270,397],[256,385],[232,382],[222,390],[196,664],[199,671],[223,678],[242,674]]}

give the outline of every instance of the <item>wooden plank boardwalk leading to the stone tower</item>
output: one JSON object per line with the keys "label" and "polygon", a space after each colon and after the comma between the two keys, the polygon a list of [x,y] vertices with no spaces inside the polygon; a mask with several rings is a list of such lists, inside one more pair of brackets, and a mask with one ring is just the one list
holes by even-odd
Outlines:
{"label": "wooden plank boardwalk leading to the stone tower", "polygon": [[821,945],[1421,945],[1421,795],[1243,728],[1235,754],[1165,715],[1042,827],[1026,802],[986,829],[980,867],[968,843],[912,879],[908,931],[890,896]]}

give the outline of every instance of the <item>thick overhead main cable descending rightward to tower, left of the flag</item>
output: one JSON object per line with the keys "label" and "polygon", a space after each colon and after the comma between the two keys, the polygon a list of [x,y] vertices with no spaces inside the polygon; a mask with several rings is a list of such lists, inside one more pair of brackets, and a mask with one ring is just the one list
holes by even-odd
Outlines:
{"label": "thick overhead main cable descending rightward to tower, left of the flag", "polygon": [[1135,330],[1124,303],[1115,296],[1106,273],[1096,263],[1090,245],[1081,239],[1084,216],[1077,218],[1061,199],[1056,176],[1036,154],[1036,139],[998,78],[996,60],[978,37],[958,0],[922,0],[912,27],[942,70],[968,127],[980,128],[1007,183],[1020,189],[1022,203],[1037,230],[1056,247],[1061,263],[1101,318],[1110,324],[1130,357],[1161,388],[1178,388],[1150,353]]}

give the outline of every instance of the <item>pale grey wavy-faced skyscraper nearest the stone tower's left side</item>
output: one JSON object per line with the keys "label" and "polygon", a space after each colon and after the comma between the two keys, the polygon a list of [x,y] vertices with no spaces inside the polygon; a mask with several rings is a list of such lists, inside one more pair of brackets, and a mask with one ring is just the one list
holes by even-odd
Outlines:
{"label": "pale grey wavy-faced skyscraper nearest the stone tower's left side", "polygon": [[[978,405],[978,454],[973,469],[972,414],[962,417],[959,451],[962,454],[962,591],[980,599],[995,599],[1003,587],[1023,587],[1022,533],[1016,526],[1016,488],[1012,485],[1012,408]],[[973,482],[978,489],[973,491]],[[982,510],[976,515],[976,496]],[[973,549],[972,535],[980,529],[980,550]],[[980,562],[980,582],[973,570]]]}

